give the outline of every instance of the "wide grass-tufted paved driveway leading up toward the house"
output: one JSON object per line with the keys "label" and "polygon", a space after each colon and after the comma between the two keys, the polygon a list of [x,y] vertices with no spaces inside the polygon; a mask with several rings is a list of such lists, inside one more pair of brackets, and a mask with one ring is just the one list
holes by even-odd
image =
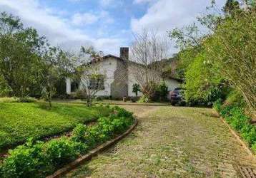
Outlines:
{"label": "wide grass-tufted paved driveway leading up toward the house", "polygon": [[211,109],[122,107],[139,117],[134,132],[66,177],[242,177],[240,172],[253,177],[256,174],[255,157],[248,155]]}

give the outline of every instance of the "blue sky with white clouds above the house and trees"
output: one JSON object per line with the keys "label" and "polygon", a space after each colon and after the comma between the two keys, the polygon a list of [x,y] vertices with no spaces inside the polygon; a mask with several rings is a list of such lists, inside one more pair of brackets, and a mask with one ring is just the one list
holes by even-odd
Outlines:
{"label": "blue sky with white clouds above the house and trees", "polygon": [[19,16],[53,46],[78,51],[92,45],[119,56],[119,48],[130,46],[142,29],[168,38],[167,31],[193,23],[209,5],[210,0],[0,0],[0,11]]}

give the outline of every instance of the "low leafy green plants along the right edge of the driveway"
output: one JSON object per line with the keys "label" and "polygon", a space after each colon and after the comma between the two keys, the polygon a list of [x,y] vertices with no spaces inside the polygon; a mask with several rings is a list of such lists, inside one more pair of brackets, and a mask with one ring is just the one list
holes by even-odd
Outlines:
{"label": "low leafy green plants along the right edge of the driveway", "polygon": [[214,108],[256,153],[256,126],[250,123],[251,119],[245,115],[244,109],[239,104],[222,105],[220,100],[215,103]]}

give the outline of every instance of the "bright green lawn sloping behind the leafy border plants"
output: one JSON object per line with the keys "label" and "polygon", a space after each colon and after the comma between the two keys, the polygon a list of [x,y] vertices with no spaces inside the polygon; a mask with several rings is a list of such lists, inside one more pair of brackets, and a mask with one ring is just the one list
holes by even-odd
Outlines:
{"label": "bright green lawn sloping behind the leafy border plants", "polygon": [[110,110],[105,107],[54,103],[0,103],[0,150],[26,141],[71,130],[79,122],[89,122]]}

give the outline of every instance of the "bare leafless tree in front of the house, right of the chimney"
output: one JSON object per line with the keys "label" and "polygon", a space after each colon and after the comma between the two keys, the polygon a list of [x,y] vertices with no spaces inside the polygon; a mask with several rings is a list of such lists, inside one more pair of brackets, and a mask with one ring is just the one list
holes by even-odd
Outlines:
{"label": "bare leafless tree in front of the house, right of the chimney", "polygon": [[[167,58],[168,44],[154,31],[144,30],[134,36],[131,50],[131,72],[142,93],[151,99],[162,80],[162,59]],[[135,62],[135,63],[133,63]],[[136,64],[137,63],[137,64]]]}

